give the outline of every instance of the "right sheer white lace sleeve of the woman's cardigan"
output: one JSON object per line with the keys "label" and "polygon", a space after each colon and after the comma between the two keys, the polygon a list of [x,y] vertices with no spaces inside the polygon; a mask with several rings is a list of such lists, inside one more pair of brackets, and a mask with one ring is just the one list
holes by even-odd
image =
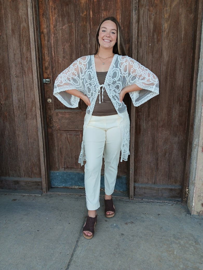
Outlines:
{"label": "right sheer white lace sleeve of the woman's cardigan", "polygon": [[134,106],[139,106],[159,94],[159,80],[148,68],[129,58],[127,85],[136,84],[142,90],[130,92]]}

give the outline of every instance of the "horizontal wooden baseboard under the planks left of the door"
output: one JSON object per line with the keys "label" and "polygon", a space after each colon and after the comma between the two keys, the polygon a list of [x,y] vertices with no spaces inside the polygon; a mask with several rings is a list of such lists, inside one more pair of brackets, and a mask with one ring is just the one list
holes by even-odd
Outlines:
{"label": "horizontal wooden baseboard under the planks left of the door", "polygon": [[28,177],[0,177],[0,188],[16,190],[42,190],[42,179]]}

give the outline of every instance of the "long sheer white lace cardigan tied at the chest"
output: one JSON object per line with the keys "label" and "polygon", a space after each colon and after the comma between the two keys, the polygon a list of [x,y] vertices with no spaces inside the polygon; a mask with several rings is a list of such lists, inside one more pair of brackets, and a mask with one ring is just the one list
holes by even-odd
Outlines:
{"label": "long sheer white lace cardigan tied at the chest", "polygon": [[[87,107],[86,116],[84,118],[84,137],[84,132],[94,110],[97,95],[100,94],[100,87],[103,87],[102,94],[105,88],[117,113],[122,117],[120,122],[122,134],[120,161],[122,161],[127,160],[130,154],[130,120],[126,105],[120,102],[120,91],[125,86],[133,84],[142,88],[140,91],[129,93],[134,106],[139,106],[159,94],[159,81],[154,73],[129,56],[117,54],[113,57],[104,84],[100,85],[97,79],[94,55],[87,55],[75,60],[58,75],[54,83],[54,96],[65,106],[70,108],[78,107],[80,99],[79,97],[65,92],[65,90],[77,89],[89,97],[91,105]],[[82,141],[78,163],[81,163],[82,166],[84,160],[86,159]]]}

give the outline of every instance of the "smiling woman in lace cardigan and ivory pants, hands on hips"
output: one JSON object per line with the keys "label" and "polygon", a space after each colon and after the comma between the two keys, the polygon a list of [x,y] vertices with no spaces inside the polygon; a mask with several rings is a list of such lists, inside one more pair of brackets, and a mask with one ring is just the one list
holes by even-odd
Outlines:
{"label": "smiling woman in lace cardigan and ivory pants, hands on hips", "polygon": [[[67,107],[86,105],[83,141],[78,162],[85,164],[88,216],[83,236],[91,239],[99,208],[102,157],[104,156],[105,215],[115,214],[112,193],[120,151],[127,160],[130,121],[123,98],[128,92],[134,106],[159,94],[158,78],[136,60],[126,56],[122,31],[114,17],[104,19],[96,34],[96,53],[78,58],[58,75],[54,95]],[[141,91],[140,91],[141,90]]]}

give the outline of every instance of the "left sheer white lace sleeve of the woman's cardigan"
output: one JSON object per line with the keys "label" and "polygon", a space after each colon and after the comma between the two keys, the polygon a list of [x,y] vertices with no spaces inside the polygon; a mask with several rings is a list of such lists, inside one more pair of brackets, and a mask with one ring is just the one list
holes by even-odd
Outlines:
{"label": "left sheer white lace sleeve of the woman's cardigan", "polygon": [[85,60],[85,56],[78,58],[68,68],[62,71],[55,80],[54,96],[67,107],[78,107],[80,98],[65,92],[66,90],[77,89],[85,94],[84,83],[82,81]]}

